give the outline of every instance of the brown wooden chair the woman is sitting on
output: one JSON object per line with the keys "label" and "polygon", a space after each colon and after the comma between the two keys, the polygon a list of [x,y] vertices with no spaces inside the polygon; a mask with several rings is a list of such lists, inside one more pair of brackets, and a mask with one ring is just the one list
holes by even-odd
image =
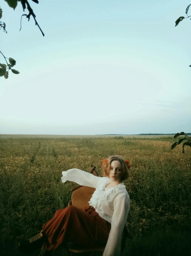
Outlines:
{"label": "brown wooden chair the woman is sitting on", "polygon": [[[92,165],[92,170],[90,171],[90,173],[95,176],[99,176],[98,173],[96,172],[95,168],[96,168],[96,166]],[[92,194],[95,191],[94,188],[78,185],[78,186],[75,186],[74,188],[72,188],[71,191],[74,191],[74,192],[71,195],[71,201],[69,201],[68,206],[74,205],[74,206],[78,207],[79,209],[83,209],[84,207],[89,207],[88,201],[90,201]],[[125,249],[125,242],[126,242],[127,238],[132,238],[132,235],[130,234],[128,227],[125,226],[124,230],[123,230],[121,253]],[[82,247],[82,246],[79,246],[79,245],[69,242],[66,244],[66,252],[68,255],[70,255],[70,252],[73,252],[73,253],[101,252],[101,253],[103,253],[105,250],[105,246],[96,247],[96,248],[85,248],[85,247]]]}

